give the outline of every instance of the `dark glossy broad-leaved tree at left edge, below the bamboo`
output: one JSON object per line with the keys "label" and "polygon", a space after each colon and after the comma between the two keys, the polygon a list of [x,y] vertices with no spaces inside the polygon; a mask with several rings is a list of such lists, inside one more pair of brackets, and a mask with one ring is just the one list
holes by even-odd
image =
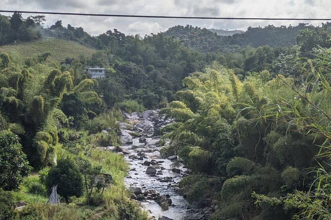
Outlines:
{"label": "dark glossy broad-leaved tree at left edge, below the bamboo", "polygon": [[18,137],[9,130],[0,131],[0,170],[0,187],[4,190],[19,189],[22,177],[31,171]]}

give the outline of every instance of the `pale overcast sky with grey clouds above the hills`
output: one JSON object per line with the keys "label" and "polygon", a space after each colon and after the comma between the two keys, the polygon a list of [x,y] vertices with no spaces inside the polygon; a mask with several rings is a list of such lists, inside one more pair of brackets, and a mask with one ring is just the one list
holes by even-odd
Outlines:
{"label": "pale overcast sky with grey clouds above the hills", "polygon": [[[2,10],[56,11],[103,14],[214,17],[291,17],[330,18],[331,0],[0,0]],[[9,13],[2,13],[10,15]],[[28,17],[29,14],[23,14]],[[125,34],[166,31],[175,25],[243,30],[269,24],[297,25],[290,21],[221,21],[155,18],[109,18],[46,15],[46,26],[62,20],[63,26],[82,27],[94,36],[118,29]],[[320,25],[321,22],[305,22]]]}

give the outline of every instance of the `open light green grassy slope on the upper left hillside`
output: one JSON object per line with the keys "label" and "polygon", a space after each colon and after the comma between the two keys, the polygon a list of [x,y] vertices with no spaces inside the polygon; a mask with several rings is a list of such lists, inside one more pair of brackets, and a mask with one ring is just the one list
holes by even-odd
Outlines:
{"label": "open light green grassy slope on the upper left hillside", "polygon": [[13,57],[30,57],[37,53],[50,52],[50,60],[61,62],[67,57],[78,58],[84,55],[89,58],[97,50],[83,46],[78,42],[53,37],[41,40],[0,46],[0,52],[7,52]]}

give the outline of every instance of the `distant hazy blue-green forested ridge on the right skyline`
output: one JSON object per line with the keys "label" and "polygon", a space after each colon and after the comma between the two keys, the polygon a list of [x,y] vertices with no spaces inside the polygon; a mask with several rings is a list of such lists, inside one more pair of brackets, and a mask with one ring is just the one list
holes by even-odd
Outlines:
{"label": "distant hazy blue-green forested ridge on the right skyline", "polygon": [[[327,30],[330,24],[324,24],[323,28]],[[271,47],[285,47],[296,44],[296,36],[299,30],[310,29],[320,30],[312,25],[299,24],[298,26],[281,26],[273,25],[252,28],[242,34],[233,36],[219,36],[206,28],[187,26],[175,26],[165,32],[168,37],[174,37],[182,40],[184,46],[192,47],[198,51],[220,51],[234,52],[240,47],[251,45],[253,47],[269,45]]]}

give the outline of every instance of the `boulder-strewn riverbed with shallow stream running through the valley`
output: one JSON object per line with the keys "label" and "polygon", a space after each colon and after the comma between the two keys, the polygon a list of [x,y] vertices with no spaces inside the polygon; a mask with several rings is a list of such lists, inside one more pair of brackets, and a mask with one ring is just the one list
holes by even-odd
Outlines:
{"label": "boulder-strewn riverbed with shallow stream running through the valley", "polygon": [[130,171],[125,179],[133,197],[156,220],[206,220],[217,209],[217,206],[197,209],[176,190],[177,183],[189,170],[171,164],[178,158],[176,155],[162,158],[160,155],[159,130],[171,123],[158,110],[147,110],[142,113],[123,112],[126,123],[118,122],[121,129],[120,147],[99,147],[121,153],[130,164]]}

